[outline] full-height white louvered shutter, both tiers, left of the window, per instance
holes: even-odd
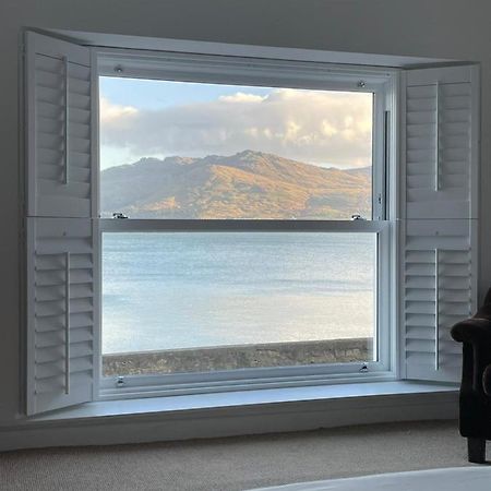
[[[26,411],[93,399],[97,220],[87,48],[26,34]]]

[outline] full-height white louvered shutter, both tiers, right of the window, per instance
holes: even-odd
[[[450,331],[476,310],[477,75],[467,65],[410,70],[403,80],[399,311],[406,379],[460,376],[462,346]]]

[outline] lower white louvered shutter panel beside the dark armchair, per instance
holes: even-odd
[[[472,220],[404,224],[402,323],[407,379],[455,382],[462,346],[450,330],[476,309]]]

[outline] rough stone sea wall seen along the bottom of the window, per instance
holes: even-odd
[[[104,355],[103,374],[116,376],[209,372],[243,368],[362,362],[371,359],[371,338],[271,343]]]

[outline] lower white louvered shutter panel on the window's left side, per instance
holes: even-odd
[[[96,288],[93,220],[27,218],[27,414],[91,400]]]

